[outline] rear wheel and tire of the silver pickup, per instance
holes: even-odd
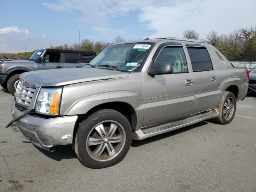
[[[213,118],[214,122],[218,124],[228,124],[233,120],[236,113],[236,97],[232,92],[224,92],[222,100],[218,105],[218,111],[219,115]]]

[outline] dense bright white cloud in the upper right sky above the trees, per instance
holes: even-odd
[[[212,29],[219,33],[232,32],[237,28],[254,26],[256,23],[255,0],[191,0],[174,6],[142,8],[139,21],[148,23],[156,30],[150,38],[167,36],[181,37],[186,29],[200,32],[200,37]]]

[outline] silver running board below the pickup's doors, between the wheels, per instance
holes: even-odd
[[[207,119],[211,119],[218,115],[219,115],[218,110],[213,109],[211,111],[189,116],[188,118],[184,118],[178,121],[174,121],[174,122],[170,122],[170,123],[166,123],[166,124],[162,124],[162,125],[158,125],[150,128],[142,128],[133,132],[133,139],[143,140],[148,137],[156,136],[156,135],[173,131],[182,127],[186,127]]]

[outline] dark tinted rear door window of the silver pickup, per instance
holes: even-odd
[[[190,56],[193,72],[212,70],[212,61],[206,48],[189,47],[188,54]]]

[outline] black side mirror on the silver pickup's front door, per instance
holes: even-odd
[[[173,68],[172,64],[169,62],[155,62],[152,64],[149,75],[164,75],[164,74],[172,74]]]

